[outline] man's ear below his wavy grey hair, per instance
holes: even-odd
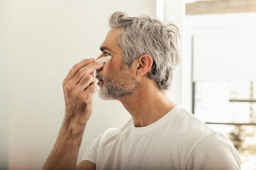
[[[148,54],[143,54],[142,56],[137,58],[137,64],[136,64],[137,76],[142,76],[143,74],[150,72],[152,64],[153,64],[153,59]]]

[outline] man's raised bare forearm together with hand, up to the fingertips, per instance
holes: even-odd
[[[92,113],[93,94],[97,91],[93,74],[94,70],[101,67],[102,64],[94,62],[94,59],[84,59],[74,65],[64,79],[62,85],[66,114],[43,170],[76,170],[84,128]],[[83,162],[81,165],[91,169],[93,163],[90,163],[92,162]]]

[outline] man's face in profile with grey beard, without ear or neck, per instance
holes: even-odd
[[[119,99],[140,87],[134,78],[135,73],[128,65],[123,64],[123,51],[116,45],[119,34],[120,30],[116,28],[112,28],[108,32],[100,48],[102,54],[98,57],[112,56],[110,62],[96,70],[96,78],[99,79],[97,84],[100,87],[99,96],[105,100]]]

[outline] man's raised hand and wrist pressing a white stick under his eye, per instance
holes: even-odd
[[[90,118],[93,109],[93,94],[96,93],[96,78],[94,70],[102,64],[94,62],[95,59],[84,59],[70,70],[63,80],[67,122],[85,123]]]

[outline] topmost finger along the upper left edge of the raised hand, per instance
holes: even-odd
[[[93,58],[92,59],[83,59],[81,62],[73,65],[72,69],[67,74],[67,77],[63,80],[63,86],[66,85],[67,82],[69,82],[70,79],[72,79],[81,68],[83,68],[84,66],[86,66],[94,61],[95,61],[95,59],[93,59]]]

